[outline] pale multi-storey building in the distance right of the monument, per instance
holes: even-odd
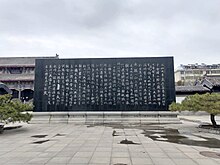
[[[220,75],[220,64],[181,65],[175,71],[175,83],[176,85],[194,85],[196,80],[202,80],[205,75]]]

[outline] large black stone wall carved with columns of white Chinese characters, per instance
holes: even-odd
[[[164,111],[173,57],[36,59],[34,111]]]

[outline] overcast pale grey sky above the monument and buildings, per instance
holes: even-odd
[[[0,0],[0,57],[220,63],[220,0]]]

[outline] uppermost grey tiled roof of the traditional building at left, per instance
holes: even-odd
[[[56,56],[48,57],[0,57],[0,66],[34,66],[35,59],[39,58],[57,58]]]

